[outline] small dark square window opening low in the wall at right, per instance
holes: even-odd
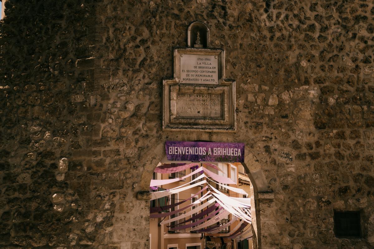
[[[340,238],[361,237],[360,212],[334,211],[334,231]]]

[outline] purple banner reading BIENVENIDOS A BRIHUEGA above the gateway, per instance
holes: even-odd
[[[169,161],[244,162],[243,143],[166,141]]]

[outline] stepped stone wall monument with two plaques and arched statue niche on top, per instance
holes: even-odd
[[[208,27],[193,24],[188,46],[191,41],[199,46],[174,48],[174,78],[163,80],[162,128],[235,131],[235,81],[225,78],[224,50],[206,48]]]

